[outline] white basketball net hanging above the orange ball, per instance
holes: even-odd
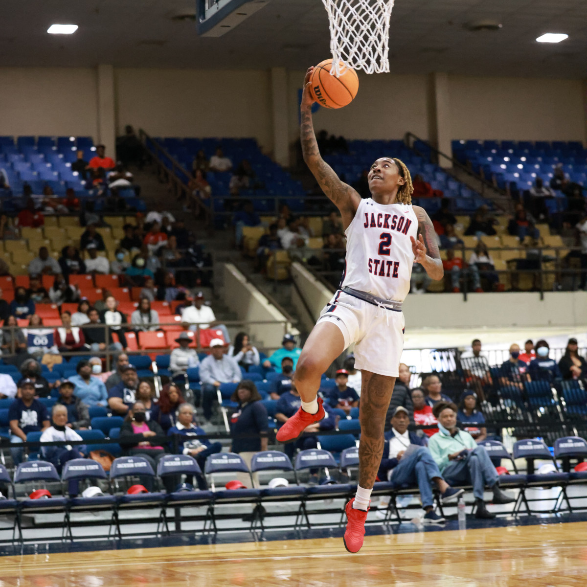
[[[389,18],[394,0],[322,0],[330,21],[332,69],[389,72]],[[342,62],[342,63],[340,63]]]

